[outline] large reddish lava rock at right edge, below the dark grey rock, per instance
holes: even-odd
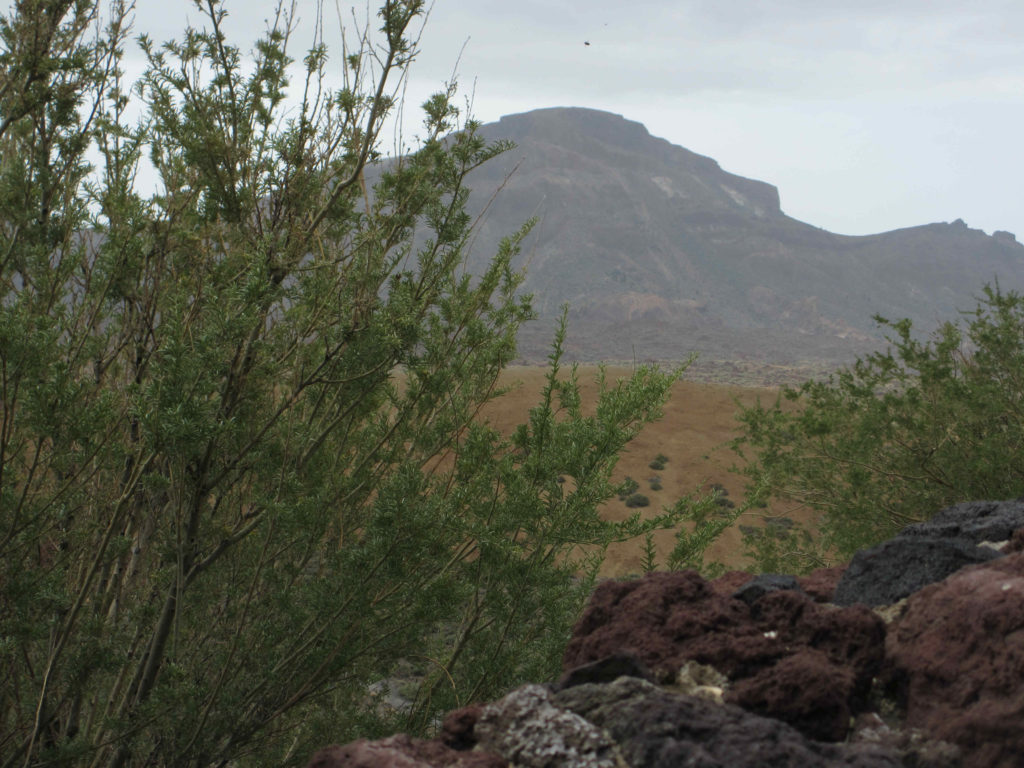
[[[966,768],[1022,765],[1024,553],[912,595],[886,651],[908,727],[958,744]]]

